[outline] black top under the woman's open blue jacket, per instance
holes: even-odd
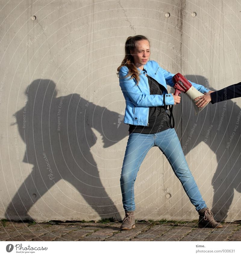
[[[163,86],[159,84],[155,79],[147,75],[150,94],[162,95]],[[142,125],[129,125],[129,132],[137,132],[143,134],[153,134],[160,131],[167,130],[169,127],[169,117],[165,113],[164,106],[149,107],[148,126]]]

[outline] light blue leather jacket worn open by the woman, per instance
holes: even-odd
[[[120,86],[126,100],[124,123],[148,126],[149,107],[164,106],[163,97],[165,97],[166,105],[174,105],[172,94],[167,92],[167,84],[171,87],[174,86],[172,81],[174,74],[167,72],[153,60],[148,61],[144,65],[143,70],[139,68],[138,70],[140,73],[138,85],[136,85],[137,83],[134,78],[130,79],[130,76],[123,78],[128,74],[128,68],[126,66],[121,67],[119,71]],[[163,86],[163,95],[150,94],[146,73]],[[192,82],[191,84],[201,93],[209,91],[202,85]]]

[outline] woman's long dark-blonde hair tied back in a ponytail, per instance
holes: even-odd
[[[125,57],[124,57],[123,61],[121,62],[121,65],[117,68],[117,75],[119,77],[119,71],[120,71],[121,67],[127,66],[127,68],[129,69],[129,72],[126,76],[124,76],[124,78],[128,77],[128,76],[130,76],[130,79],[135,78],[137,81],[137,84],[140,81],[139,72],[138,72],[138,69],[136,68],[136,65],[134,63],[134,58],[133,58],[133,56],[131,56],[130,51],[135,50],[136,42],[140,41],[140,40],[147,40],[149,42],[148,38],[146,36],[142,36],[142,35],[129,36],[127,38],[126,43],[125,43]],[[150,42],[149,42],[149,44],[150,44]]]

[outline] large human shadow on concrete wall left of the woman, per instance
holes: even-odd
[[[15,113],[19,134],[26,144],[23,162],[34,166],[8,205],[6,218],[33,219],[28,213],[30,207],[55,183],[64,179],[101,218],[120,220],[121,216],[100,180],[91,147],[99,143],[93,127],[102,134],[100,144],[107,148],[127,136],[124,122],[117,132],[118,113],[94,105],[76,93],[56,98],[55,87],[51,80],[33,81],[26,89],[26,105]],[[26,120],[23,120],[24,112]],[[52,205],[60,206],[57,213],[60,217],[73,220],[71,216],[61,216],[67,207],[62,205],[61,198],[66,200],[66,195],[58,189],[58,198],[49,194]],[[73,211],[83,213],[78,198],[69,200],[76,205]],[[48,207],[51,210],[51,205]]]

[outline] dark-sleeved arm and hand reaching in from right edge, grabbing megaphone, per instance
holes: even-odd
[[[230,85],[226,88],[223,88],[215,92],[204,93],[204,94],[205,95],[199,96],[196,99],[194,99],[194,100],[199,100],[196,103],[198,107],[203,107],[209,102],[214,104],[224,100],[231,100],[234,98],[241,97],[241,82]]]

